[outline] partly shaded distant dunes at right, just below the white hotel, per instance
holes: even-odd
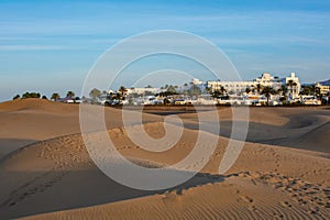
[[[220,109],[219,117],[219,135],[230,138],[232,110]],[[186,128],[199,129],[196,113],[180,114],[180,118],[185,120]],[[330,153],[326,138],[330,130],[324,125],[329,121],[327,108],[250,108],[246,141]]]

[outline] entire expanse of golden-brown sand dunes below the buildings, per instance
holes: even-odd
[[[0,103],[0,218],[330,218],[329,109],[250,108],[244,148],[223,175],[218,168],[232,109],[218,113],[220,132],[205,131],[219,139],[217,147],[194,165],[207,160],[202,170],[183,185],[147,191],[116,183],[94,164],[79,134],[78,106],[33,99]],[[198,134],[197,113],[177,116],[185,124],[182,139],[162,153],[132,143],[120,109],[107,108],[106,123],[122,155],[142,166],[168,166],[191,152]],[[158,139],[165,134],[163,116],[145,113],[143,119],[132,129],[143,127]]]

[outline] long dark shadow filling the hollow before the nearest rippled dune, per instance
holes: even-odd
[[[64,172],[1,172],[0,177],[1,219],[84,208],[165,193],[179,196],[189,188],[224,180],[223,176],[198,173],[179,186],[148,191],[118,184],[96,167]],[[16,186],[13,187],[11,183]]]

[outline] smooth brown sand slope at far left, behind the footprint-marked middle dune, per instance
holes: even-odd
[[[148,121],[162,119],[150,116]],[[121,112],[106,109],[109,129],[122,125]],[[80,132],[79,106],[41,99],[23,99],[0,103],[0,160],[10,152],[36,141]]]

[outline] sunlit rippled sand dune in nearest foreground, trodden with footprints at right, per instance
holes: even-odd
[[[273,176],[270,174],[268,176]],[[275,176],[275,175],[274,175]],[[264,178],[264,176],[261,176]],[[278,177],[280,179],[280,177]],[[284,177],[285,179],[285,177]],[[293,180],[295,182],[295,180]],[[293,184],[294,185],[294,184]],[[296,191],[309,184],[301,183]],[[296,187],[296,186],[295,186]],[[294,188],[296,189],[296,188]],[[306,193],[319,195],[322,189]],[[297,193],[298,194],[298,193]],[[326,194],[323,194],[326,198]],[[180,194],[167,191],[85,209],[41,215],[33,219],[64,217],[96,219],[327,219],[329,212],[314,207],[309,197],[295,197],[276,187],[268,187],[257,178],[243,174],[229,177],[226,183],[189,188]],[[326,200],[323,198],[323,200]],[[312,208],[311,208],[312,207]],[[30,219],[30,218],[28,218]]]

